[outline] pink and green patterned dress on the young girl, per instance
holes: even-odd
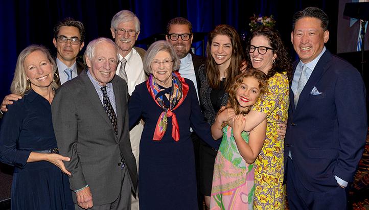
[[[248,133],[242,132],[248,143]],[[215,158],[210,208],[252,209],[255,191],[254,169],[237,149],[233,129],[223,128],[223,138]]]

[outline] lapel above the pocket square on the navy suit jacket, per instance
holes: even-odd
[[[316,64],[304,89],[301,91],[300,97],[298,99],[296,111],[298,111],[300,107],[302,107],[302,105],[309,98],[311,90],[314,88],[314,86],[319,81],[319,79],[324,74],[324,72],[326,72],[329,66],[329,61],[331,59],[332,59],[332,54],[328,50],[326,50],[326,52],[320,57],[318,63]]]

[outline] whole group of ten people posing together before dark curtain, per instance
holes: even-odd
[[[345,209],[365,144],[365,87],[325,47],[328,16],[293,17],[291,63],[275,29],[243,50],[229,25],[191,52],[192,25],[134,47],[122,10],[108,38],[54,28],[54,59],[31,45],[1,110],[0,160],[15,167],[13,209]],[[60,86],[61,85],[61,86]],[[287,125],[287,128],[285,128]],[[286,130],[287,129],[287,130]]]

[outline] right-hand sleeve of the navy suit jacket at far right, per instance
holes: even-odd
[[[367,132],[365,86],[351,65],[340,71],[334,91],[339,124],[339,155],[334,175],[345,181],[353,177],[361,158]]]

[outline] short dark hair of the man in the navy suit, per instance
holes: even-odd
[[[315,17],[321,21],[321,28],[324,31],[328,30],[329,18],[328,15],[321,9],[317,7],[307,7],[303,11],[298,11],[293,15],[292,19],[292,31],[295,30],[295,25],[297,20],[304,18],[304,17]]]

